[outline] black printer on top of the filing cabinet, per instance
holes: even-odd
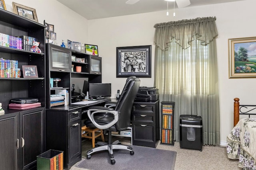
[[[150,102],[159,98],[159,92],[156,87],[140,86],[134,102]]]

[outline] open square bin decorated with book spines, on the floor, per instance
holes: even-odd
[[[36,156],[37,170],[63,170],[63,151],[48,150]]]

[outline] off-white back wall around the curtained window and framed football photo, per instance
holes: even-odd
[[[154,85],[154,24],[168,21],[216,16],[218,29],[217,55],[220,90],[220,140],[233,127],[233,102],[240,98],[241,104],[256,104],[254,78],[228,78],[228,39],[255,36],[256,1],[244,0],[208,6],[176,9],[176,17],[166,11],[136,14],[97,20],[88,20],[89,41],[98,45],[102,57],[102,82],[112,83],[115,96],[122,89],[126,78],[116,78],[116,47],[152,45],[152,78],[140,78],[142,86]],[[146,6],[145,6],[146,8]],[[104,25],[104,26],[103,26]]]

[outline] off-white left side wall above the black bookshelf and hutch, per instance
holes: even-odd
[[[67,39],[86,43],[88,41],[88,21],[56,0],[4,0],[6,10],[13,12],[12,2],[36,9],[38,22],[54,25],[56,45],[61,45],[62,39],[67,45]],[[40,46],[39,46],[40,47]]]

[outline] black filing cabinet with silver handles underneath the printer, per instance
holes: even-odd
[[[132,145],[156,148],[159,141],[159,100],[134,102]]]

